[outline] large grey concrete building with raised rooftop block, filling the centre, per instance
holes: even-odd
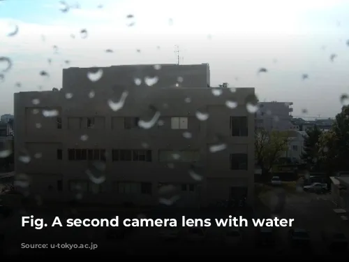
[[[140,205],[180,197],[177,205],[191,206],[247,196],[252,203],[254,115],[246,101],[254,88],[221,87],[214,96],[206,64],[102,69],[96,82],[89,68],[68,68],[58,92],[15,94],[15,173],[26,174],[17,179],[29,180],[31,194]],[[151,87],[149,75],[157,78]]]

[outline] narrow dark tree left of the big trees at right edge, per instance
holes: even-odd
[[[320,170],[319,139],[321,135],[322,131],[315,125],[307,130],[304,136],[304,152],[301,159],[311,170]]]

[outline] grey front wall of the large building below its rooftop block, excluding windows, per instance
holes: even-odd
[[[96,83],[83,78],[78,86],[64,79],[66,84],[59,92],[15,94],[15,171],[27,175],[29,191],[47,199],[68,201],[82,197],[81,201],[88,202],[145,205],[158,203],[163,197],[158,190],[161,185],[173,184],[176,189],[172,195],[181,196],[179,205],[206,205],[217,198],[229,198],[230,187],[246,187],[248,201],[253,201],[254,115],[247,112],[245,105],[247,97],[254,94],[253,88],[237,89],[235,93],[223,88],[221,96],[213,96],[207,87],[126,88],[110,87],[103,78],[100,81],[100,88],[96,88]],[[92,89],[93,98],[89,96]],[[124,106],[112,110],[110,104],[117,103],[125,92],[128,96]],[[67,93],[73,97],[66,99]],[[33,99],[40,103],[33,105]],[[237,101],[237,108],[227,108],[228,99]],[[47,112],[58,115],[45,117]],[[150,129],[125,129],[126,117],[149,122],[157,112],[161,115]],[[198,112],[208,115],[207,121],[200,121]],[[241,116],[247,117],[248,136],[232,136],[230,117]],[[183,117],[187,129],[172,129],[172,117]],[[93,128],[88,127],[88,118],[95,119]],[[192,138],[185,138],[184,132],[190,132]],[[228,150],[209,152],[211,145],[222,143],[228,145]],[[94,156],[95,152],[105,152],[105,170],[96,170],[91,161],[69,160],[71,149],[75,150],[75,157],[76,150],[87,149],[90,151],[84,154],[94,152]],[[121,154],[120,150],[151,150],[151,161],[113,161],[115,152]],[[172,159],[164,159],[164,151],[172,151]],[[191,161],[174,157],[183,157],[184,152],[198,157]],[[247,154],[246,170],[230,170],[230,154]],[[105,182],[96,185],[87,170],[94,174],[94,180],[105,177]],[[71,188],[74,180],[80,189]]]

